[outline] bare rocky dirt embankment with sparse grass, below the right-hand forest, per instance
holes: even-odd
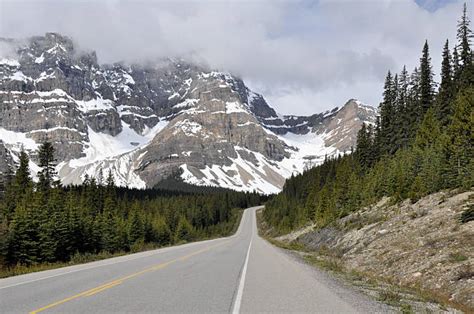
[[[421,294],[474,312],[474,221],[461,223],[474,191],[440,192],[412,204],[378,204],[321,230],[306,228],[280,241],[304,245],[344,271],[411,287]]]

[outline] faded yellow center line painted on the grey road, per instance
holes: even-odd
[[[60,304],[69,302],[69,301],[71,301],[71,300],[74,300],[74,299],[77,299],[77,298],[80,298],[80,297],[92,296],[92,295],[94,295],[94,294],[96,294],[96,293],[99,293],[99,292],[102,292],[102,291],[104,291],[104,290],[107,290],[107,289],[110,289],[110,288],[112,288],[112,287],[115,287],[115,286],[117,286],[117,285],[123,283],[125,280],[132,279],[132,278],[134,278],[134,277],[137,277],[137,276],[139,276],[139,275],[142,275],[142,274],[147,273],[147,272],[150,272],[150,271],[156,271],[156,270],[159,270],[159,269],[163,269],[163,268],[165,268],[165,267],[167,267],[167,266],[169,266],[169,265],[171,265],[171,264],[173,264],[173,263],[176,263],[176,262],[178,262],[178,261],[185,261],[185,260],[187,260],[187,259],[190,258],[190,257],[193,257],[193,256],[195,256],[195,255],[204,253],[204,252],[209,251],[209,250],[211,250],[211,249],[213,249],[213,248],[216,248],[216,247],[218,247],[218,246],[224,245],[224,244],[226,244],[226,243],[228,243],[228,242],[229,242],[229,241],[226,241],[226,242],[224,242],[224,243],[219,243],[219,244],[216,244],[216,245],[211,245],[211,246],[209,246],[209,247],[207,247],[207,248],[204,248],[204,249],[195,251],[195,252],[190,253],[190,254],[188,254],[188,255],[184,255],[184,256],[178,257],[178,258],[176,258],[176,259],[173,259],[173,260],[171,260],[171,261],[168,261],[168,262],[165,262],[165,263],[161,263],[161,264],[157,264],[157,265],[154,265],[154,266],[152,266],[152,267],[149,267],[149,268],[146,268],[146,269],[144,269],[144,270],[141,270],[141,271],[139,271],[139,272],[132,273],[132,274],[127,275],[127,276],[125,276],[125,277],[121,277],[121,278],[119,278],[119,279],[116,279],[116,280],[107,282],[107,283],[105,283],[105,284],[103,284],[103,285],[100,285],[100,286],[98,286],[98,287],[95,287],[95,288],[92,288],[92,289],[83,291],[83,292],[81,292],[81,293],[75,294],[75,295],[70,296],[70,297],[68,297],[68,298],[65,298],[65,299],[56,301],[56,302],[54,302],[54,303],[48,304],[48,305],[43,306],[42,308],[39,308],[39,309],[37,309],[37,310],[33,310],[33,311],[30,312],[30,314],[36,314],[36,313],[42,312],[42,311],[44,311],[44,310],[50,309],[50,308],[52,308],[52,307],[58,306],[58,305],[60,305]]]

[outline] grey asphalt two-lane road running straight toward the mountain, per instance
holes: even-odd
[[[374,313],[384,306],[257,234],[237,233],[0,280],[1,313]]]

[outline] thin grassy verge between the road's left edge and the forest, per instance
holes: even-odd
[[[173,243],[173,244],[164,245],[164,246],[154,245],[151,243],[141,244],[139,246],[135,246],[130,251],[120,251],[120,252],[115,252],[115,253],[99,252],[97,254],[76,254],[68,262],[43,263],[43,264],[34,264],[34,265],[15,265],[13,267],[0,268],[0,279],[11,277],[11,276],[18,276],[18,275],[24,275],[28,273],[44,271],[44,270],[51,270],[51,269],[62,268],[62,267],[67,267],[67,266],[74,266],[74,265],[79,265],[79,264],[96,262],[96,261],[100,261],[100,260],[104,260],[108,258],[119,257],[119,256],[134,254],[134,253],[140,253],[140,252],[146,252],[146,251],[166,248],[170,246],[179,246],[186,243],[212,240],[212,239],[230,236],[237,232],[240,221],[242,220],[243,212],[244,212],[243,209],[235,210],[236,217],[234,218],[232,229],[225,235],[219,234],[219,235],[215,235],[211,237],[200,237],[200,238],[194,239],[191,242],[180,241],[178,243]]]

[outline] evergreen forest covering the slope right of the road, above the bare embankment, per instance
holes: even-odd
[[[411,74],[388,72],[380,117],[359,131],[349,155],[326,159],[286,181],[264,217],[279,233],[307,222],[325,226],[383,196],[393,200],[474,183],[472,31],[464,11],[457,43],[444,46],[441,82],[434,82],[428,41]],[[472,209],[466,212],[472,219]],[[471,217],[471,218],[469,218]]]

